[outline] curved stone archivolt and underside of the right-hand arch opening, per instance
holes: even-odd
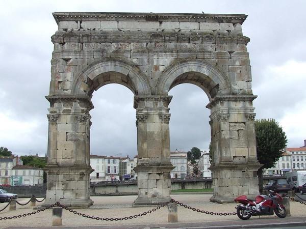
[[[158,95],[168,95],[175,85],[192,83],[200,87],[209,100],[217,95],[231,93],[231,85],[222,70],[204,60],[187,59],[170,65],[157,84]]]

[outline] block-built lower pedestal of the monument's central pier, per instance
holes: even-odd
[[[172,164],[137,166],[138,198],[134,205],[160,205],[170,201]]]

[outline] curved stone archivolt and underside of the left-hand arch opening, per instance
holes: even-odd
[[[147,78],[135,64],[124,60],[100,60],[92,63],[74,80],[72,95],[91,95],[103,85],[119,83],[134,95],[150,95]]]

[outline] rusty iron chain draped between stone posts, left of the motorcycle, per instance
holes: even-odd
[[[42,201],[40,201],[42,202]],[[29,203],[29,202],[28,202]],[[178,201],[175,201],[174,199],[171,199],[169,202],[165,203],[165,204],[162,204],[152,210],[149,210],[149,211],[146,211],[146,212],[143,212],[143,213],[139,213],[138,215],[133,215],[133,216],[126,216],[126,217],[121,217],[121,218],[104,218],[104,217],[96,217],[96,216],[90,216],[90,215],[86,215],[86,214],[82,214],[81,212],[78,212],[78,211],[75,211],[65,205],[62,205],[60,204],[59,202],[53,204],[53,205],[49,205],[43,209],[39,209],[39,210],[36,210],[36,211],[33,211],[33,212],[30,212],[30,213],[27,213],[27,214],[22,214],[22,215],[17,215],[17,216],[9,216],[9,217],[0,217],[0,220],[6,220],[6,219],[16,219],[16,218],[21,218],[21,217],[25,217],[25,216],[30,216],[30,215],[34,215],[36,213],[39,213],[39,212],[42,212],[42,211],[45,211],[49,208],[52,208],[52,207],[61,207],[69,212],[72,212],[73,214],[76,214],[76,215],[79,215],[79,216],[82,216],[82,217],[85,217],[85,218],[88,218],[88,219],[96,219],[96,220],[105,220],[105,221],[118,221],[118,220],[128,220],[128,219],[133,219],[133,218],[137,218],[137,217],[141,217],[141,216],[144,216],[144,215],[147,215],[147,214],[150,214],[152,212],[155,212],[165,206],[167,206],[168,204],[177,204],[177,205],[180,205],[184,208],[188,208],[189,210],[192,210],[192,211],[196,211],[196,212],[199,212],[199,213],[203,213],[203,214],[208,214],[208,215],[220,215],[220,216],[227,216],[227,215],[236,215],[237,213],[236,212],[229,212],[229,213],[222,213],[222,212],[209,212],[209,211],[204,211],[204,210],[200,210],[200,209],[196,209],[196,208],[192,208],[186,204],[183,204],[183,203],[180,203]],[[10,203],[9,203],[10,204]],[[9,204],[5,207],[7,208],[9,206]],[[5,209],[4,208],[4,209]],[[3,209],[3,210],[4,210]],[[2,211],[2,210],[1,210]]]

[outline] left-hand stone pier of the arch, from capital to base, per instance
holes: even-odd
[[[90,115],[88,96],[49,96],[47,193],[43,206],[57,201],[71,207],[89,207]]]

